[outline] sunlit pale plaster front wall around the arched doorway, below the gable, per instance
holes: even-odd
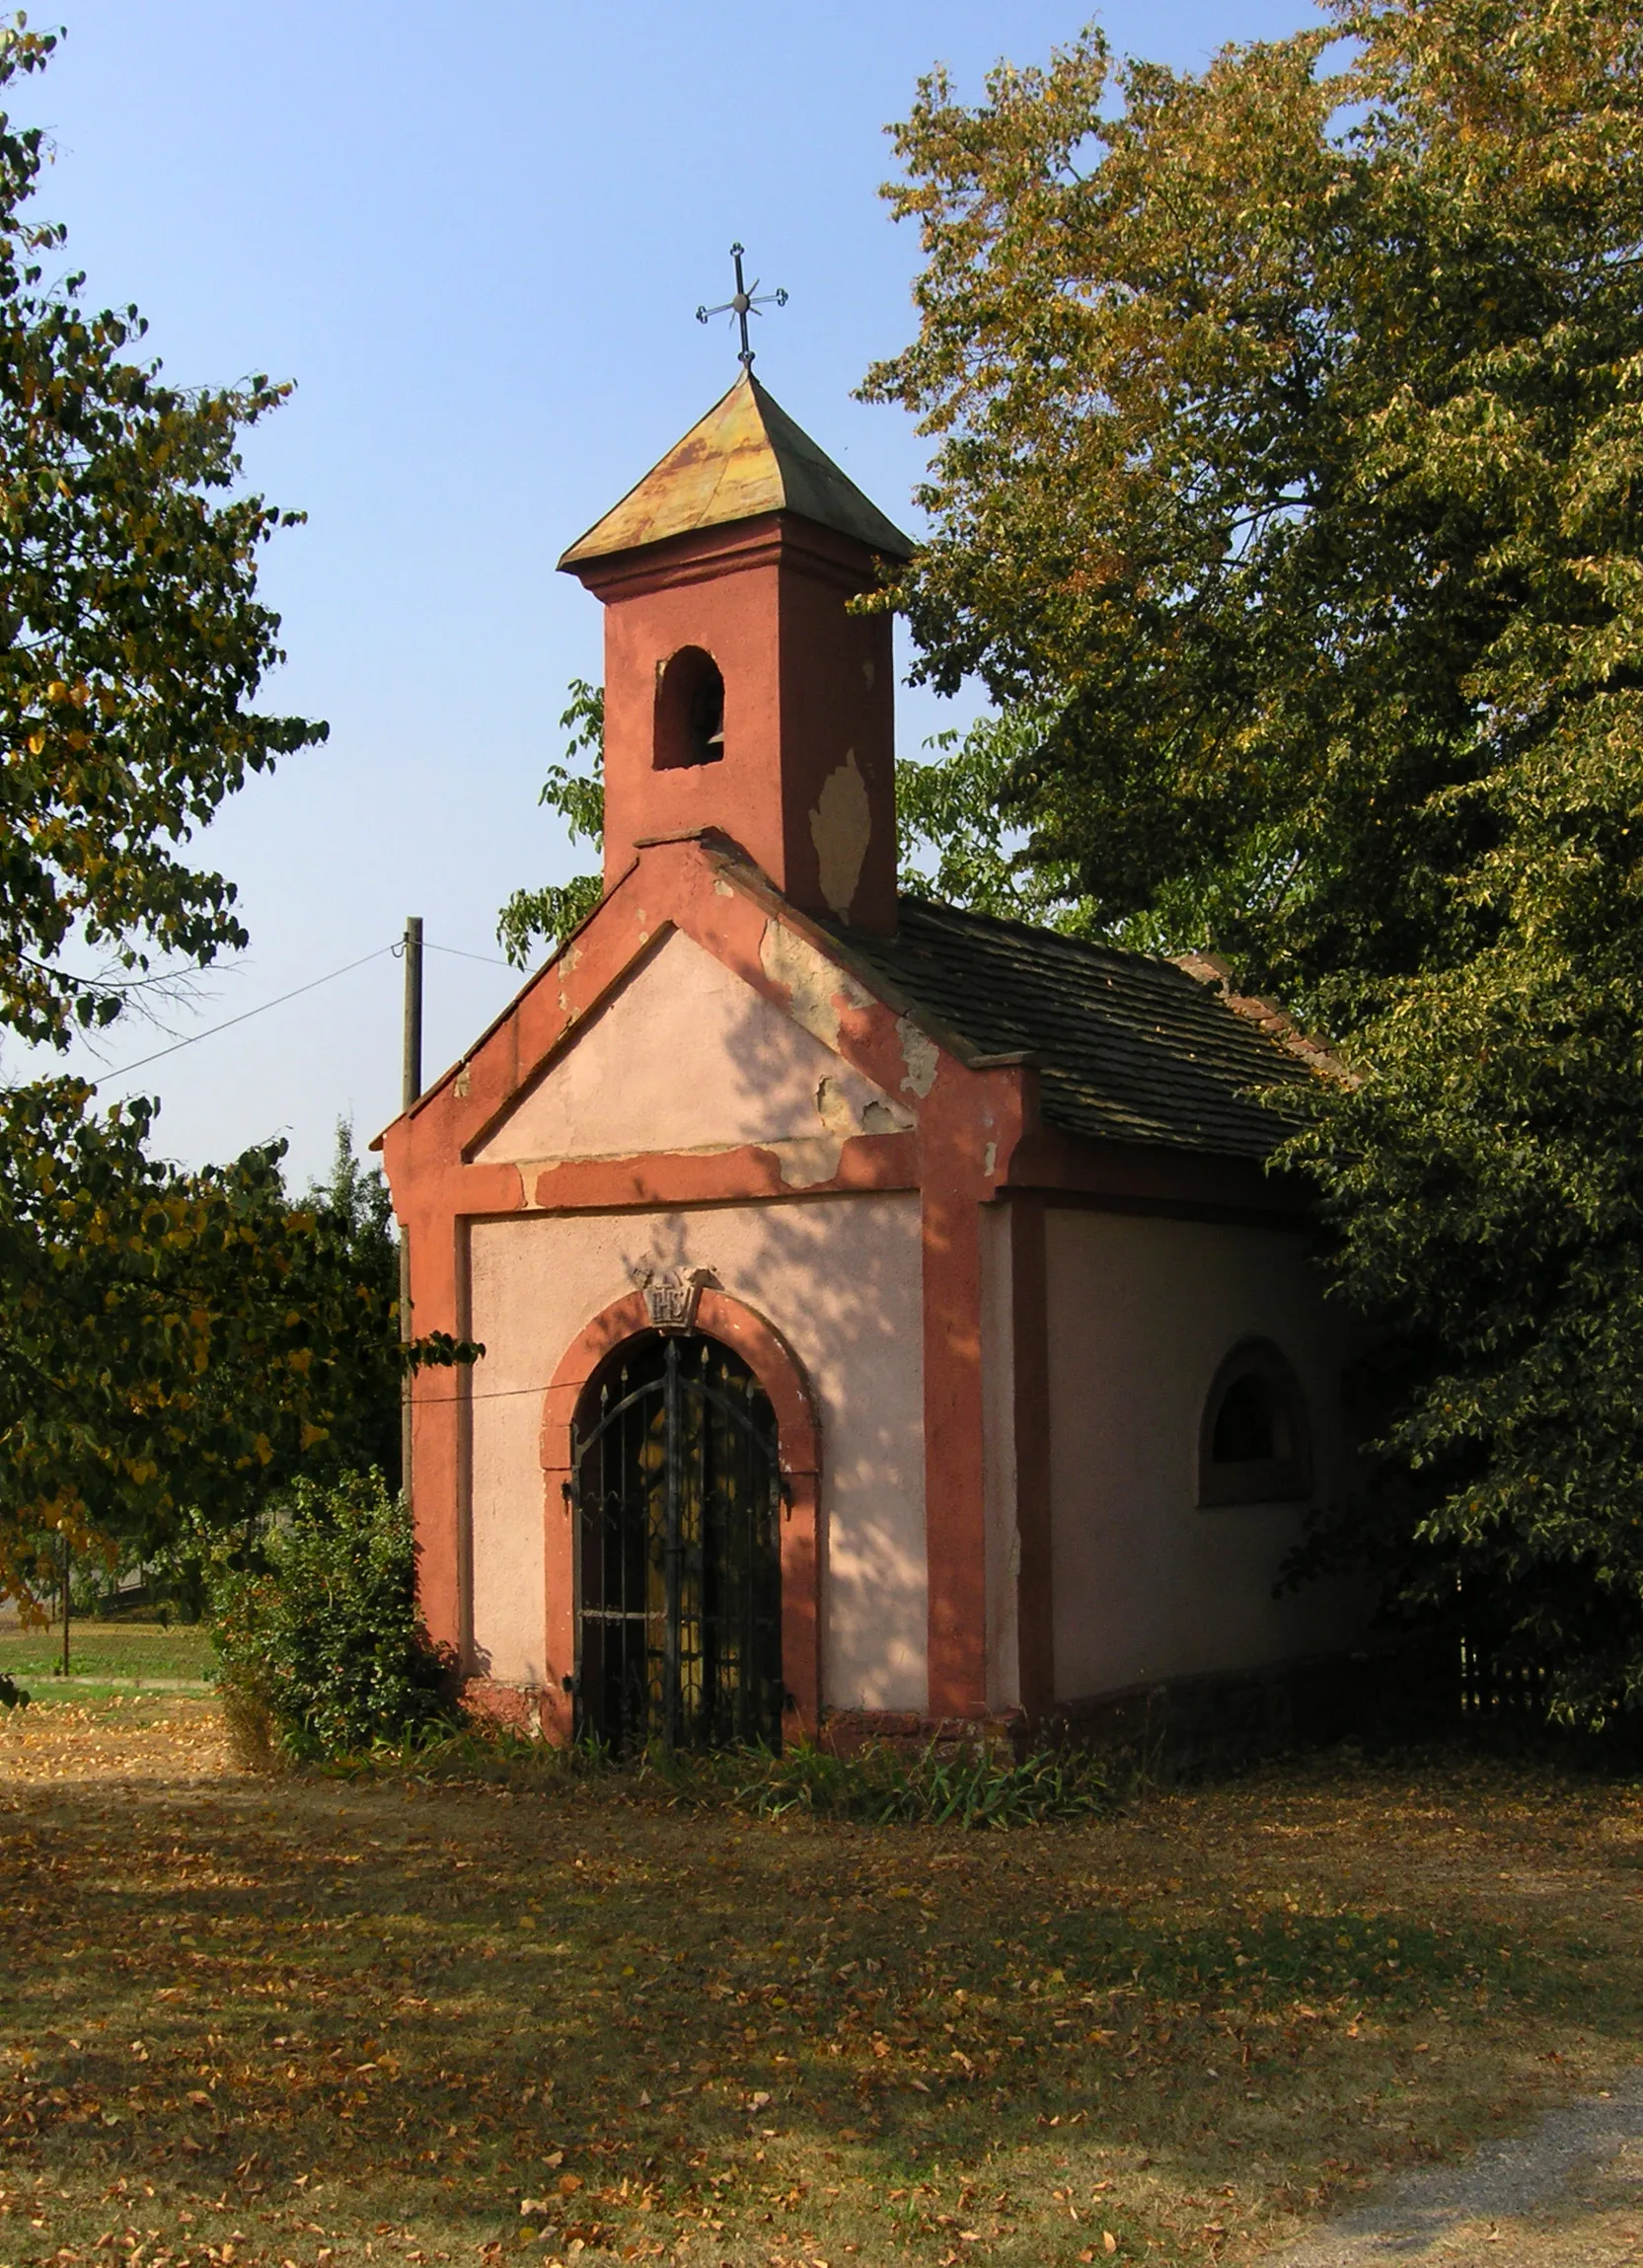
[[[641,1263],[712,1268],[793,1347],[823,1438],[823,1694],[922,1710],[925,1388],[918,1198],[671,1213],[517,1213],[469,1238],[474,1649],[483,1674],[544,1676],[542,1397],[564,1349]],[[557,1506],[546,1517],[564,1517]]]

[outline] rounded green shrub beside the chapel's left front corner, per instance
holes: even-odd
[[[242,1765],[358,1755],[453,1721],[453,1658],[417,1615],[410,1510],[381,1472],[299,1481],[258,1563],[220,1563],[211,1581],[218,1685]]]

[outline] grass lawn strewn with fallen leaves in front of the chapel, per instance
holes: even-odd
[[[1638,1862],[1462,1758],[963,1837],[11,1712],[0,2263],[1249,2261],[1638,2057]]]

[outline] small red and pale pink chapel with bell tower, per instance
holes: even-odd
[[[551,1740],[1076,1724],[1339,1656],[1317,1061],[1183,964],[897,896],[906,538],[750,367],[560,565],[605,889],[383,1136],[431,1633]]]

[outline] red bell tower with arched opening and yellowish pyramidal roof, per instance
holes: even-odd
[[[895,930],[888,615],[909,540],[750,370],[560,560],[605,606],[605,887],[714,828],[791,905]]]

